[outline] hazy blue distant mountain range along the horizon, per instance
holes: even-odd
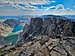
[[[42,17],[66,17],[67,19],[72,19],[72,20],[75,20],[75,15],[43,15]],[[39,15],[19,15],[19,16],[0,16],[0,19],[24,19],[24,18],[27,18],[27,17],[39,17]]]

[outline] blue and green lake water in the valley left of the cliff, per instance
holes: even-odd
[[[14,27],[12,33],[10,33],[6,38],[5,41],[6,43],[11,43],[11,44],[16,44],[16,41],[18,39],[18,34],[16,33],[17,31],[20,31],[23,29],[23,26],[18,24],[17,26]]]

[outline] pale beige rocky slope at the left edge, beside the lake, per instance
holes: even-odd
[[[5,23],[0,23],[0,36],[7,36],[9,33],[12,32],[12,28]]]

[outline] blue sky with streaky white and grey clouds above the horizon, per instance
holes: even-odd
[[[75,15],[75,0],[0,0],[3,15]]]

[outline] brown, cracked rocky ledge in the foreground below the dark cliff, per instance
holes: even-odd
[[[75,56],[75,38],[40,35],[24,44],[6,46],[0,50],[0,56]]]

